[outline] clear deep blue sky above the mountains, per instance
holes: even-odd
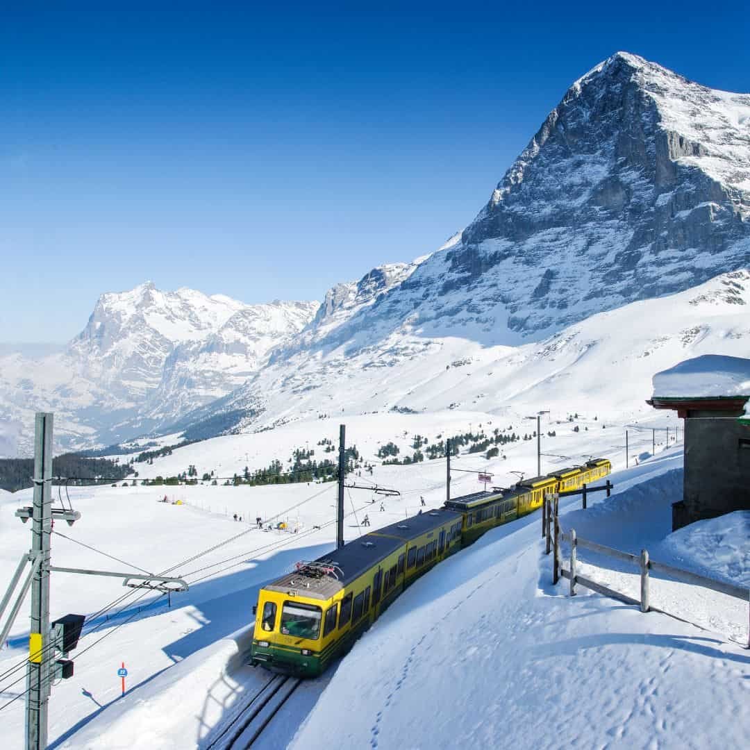
[[[180,7],[4,10],[0,341],[146,279],[321,299],[433,251],[618,49],[750,91],[742,4]]]

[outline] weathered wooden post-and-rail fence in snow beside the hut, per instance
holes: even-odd
[[[580,585],[584,586],[586,589],[591,589],[598,594],[610,596],[619,599],[619,601],[624,601],[626,604],[639,606],[641,612],[648,612],[651,610],[670,617],[675,617],[676,619],[684,618],[655,607],[649,601],[649,573],[654,571],[679,580],[682,583],[691,583],[693,586],[702,586],[704,589],[710,589],[748,603],[748,642],[739,643],[739,645],[743,648],[750,649],[750,588],[747,586],[736,586],[733,583],[724,583],[721,580],[714,580],[713,578],[692,573],[691,571],[682,570],[682,568],[675,568],[673,565],[667,565],[665,562],[656,562],[649,558],[648,550],[640,550],[640,555],[634,555],[630,552],[622,552],[622,550],[616,550],[614,547],[607,547],[604,544],[599,544],[597,541],[580,538],[577,536],[575,529],[570,529],[569,532],[564,532],[559,523],[558,508],[559,495],[557,493],[551,496],[547,495],[544,498],[542,519],[546,526],[547,536],[545,551],[547,554],[549,554],[550,551],[553,552],[552,583],[556,584],[560,577],[567,578],[570,581],[571,596],[575,595],[575,587]],[[561,543],[563,541],[570,544],[570,557],[567,570],[564,567],[564,561],[562,559]],[[578,547],[634,565],[634,567],[640,571],[640,599],[632,598],[624,592],[616,591],[616,589],[611,589],[603,583],[598,583],[595,580],[591,580],[590,578],[581,575],[577,571]],[[691,624],[697,625],[697,623]],[[700,627],[700,625],[697,625],[697,627]]]

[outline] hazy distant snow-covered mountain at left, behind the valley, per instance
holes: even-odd
[[[55,412],[60,448],[173,422],[244,383],[319,307],[246,305],[189,289],[163,292],[151,282],[104,294],[65,351],[0,356],[1,452],[28,452],[36,410]]]

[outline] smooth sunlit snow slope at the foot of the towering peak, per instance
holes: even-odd
[[[594,412],[626,422],[652,412],[645,400],[655,373],[691,356],[748,356],[748,305],[750,272],[742,270],[597,314],[520,347],[482,346],[473,329],[437,337],[415,325],[371,347],[350,350],[347,342],[314,356],[293,353],[221,408],[251,410],[241,423],[248,431],[320,415],[500,415],[508,408]]]

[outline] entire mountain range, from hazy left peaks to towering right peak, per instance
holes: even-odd
[[[422,408],[406,396],[437,383],[462,349],[481,359],[488,347],[521,347],[513,356],[524,372],[536,371],[531,352],[554,370],[542,353],[577,346],[581,322],[615,308],[636,314],[633,303],[670,294],[686,305],[682,328],[655,318],[654,341],[697,346],[682,329],[701,330],[705,305],[679,293],[704,285],[730,318],[740,311],[748,220],[750,95],[618,52],[568,89],[475,220],[428,257],[338,284],[323,305],[243,305],[144,284],[102,296],[83,333],[42,366],[0,356],[0,452],[28,452],[20,436],[40,408],[59,414],[66,447],[175,423],[226,431],[316,410]],[[612,320],[627,326],[621,314]],[[746,352],[739,318],[730,329],[734,338],[703,338]],[[510,371],[510,392],[527,392],[524,372]],[[551,374],[538,377],[553,395]]]

